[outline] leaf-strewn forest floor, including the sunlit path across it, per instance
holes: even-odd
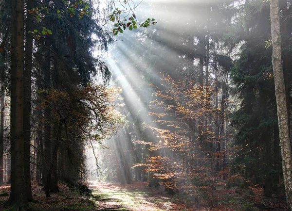
[[[34,199],[31,203],[34,211],[208,211],[210,200],[192,198],[189,195],[168,195],[164,187],[149,188],[146,182],[131,182],[120,185],[113,182],[91,183],[93,197],[88,200],[71,192],[66,185],[60,184],[60,193],[51,193],[46,198],[42,187],[32,184]],[[0,186],[0,194],[10,192],[10,186]],[[249,189],[214,190],[213,211],[265,211],[285,210],[283,197],[262,198],[261,202],[253,201],[256,195],[247,195]],[[9,196],[0,196],[0,211]]]

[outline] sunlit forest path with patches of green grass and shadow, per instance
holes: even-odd
[[[171,202],[171,195],[164,188],[149,188],[147,182],[128,185],[102,182],[91,183],[98,209],[102,211],[179,211],[183,205]]]

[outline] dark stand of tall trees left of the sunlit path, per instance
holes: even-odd
[[[98,11],[91,1],[5,0],[0,11],[0,153],[2,158],[4,91],[10,84],[11,194],[6,205],[19,210],[33,201],[31,179],[42,180],[50,196],[58,191],[59,179],[74,184],[84,178],[84,145],[111,134],[119,122],[112,91],[90,85],[97,73],[105,83],[110,79],[107,65],[91,50],[107,50],[112,39],[93,18]],[[10,82],[4,80],[8,66]],[[61,162],[61,156],[68,159]],[[65,166],[68,172],[62,171]]]

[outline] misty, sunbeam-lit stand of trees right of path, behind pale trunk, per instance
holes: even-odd
[[[123,37],[114,52],[121,61],[115,77],[131,93],[124,102],[135,177],[164,179],[177,191],[185,180],[212,187],[236,176],[266,196],[282,191],[269,2],[169,3],[161,14],[160,6],[149,9],[164,24]],[[280,11],[290,125],[290,3],[281,1]],[[170,21],[165,13],[175,15]]]

